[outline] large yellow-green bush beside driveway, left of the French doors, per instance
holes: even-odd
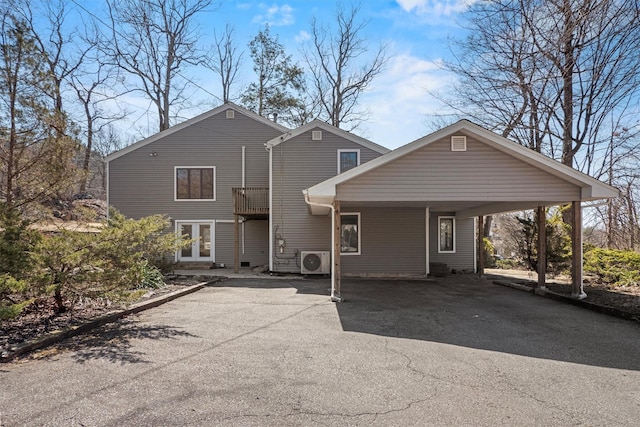
[[[153,264],[190,241],[167,233],[169,221],[154,215],[127,219],[115,210],[100,233],[63,230],[37,247],[40,290],[60,312],[79,297],[117,295],[140,287],[160,287],[162,273]]]

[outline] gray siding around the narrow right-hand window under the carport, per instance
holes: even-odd
[[[442,262],[450,269],[472,271],[475,268],[475,220],[456,218],[455,253],[438,253],[438,217],[452,216],[451,212],[430,212],[429,262]]]

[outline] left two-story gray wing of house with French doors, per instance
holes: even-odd
[[[223,105],[108,156],[107,202],[130,218],[169,215],[175,232],[197,239],[175,261],[232,266],[231,189],[268,188],[264,144],[287,131]],[[269,263],[268,219],[243,222],[240,238],[242,263]]]

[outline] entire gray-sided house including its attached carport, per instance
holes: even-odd
[[[579,215],[580,203],[618,195],[466,120],[389,151],[320,121],[289,130],[231,103],[107,162],[111,206],[169,215],[196,239],[175,261],[331,274],[336,298],[341,276],[426,275],[435,263],[481,271],[483,215],[565,203]],[[581,283],[581,269],[574,276]]]

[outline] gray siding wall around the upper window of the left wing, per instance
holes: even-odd
[[[281,132],[238,111],[223,112],[109,162],[109,203],[125,216],[167,214],[182,220],[233,219],[232,187],[269,186],[264,143]],[[155,155],[152,155],[155,153]],[[175,201],[175,166],[215,166],[215,201]]]

